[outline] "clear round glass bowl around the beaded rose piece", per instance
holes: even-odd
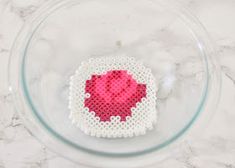
[[[70,76],[82,61],[119,54],[151,68],[156,128],[126,139],[87,136],[68,118]],[[220,92],[215,56],[202,25],[175,3],[50,1],[15,40],[9,88],[29,131],[57,153],[88,166],[141,167],[168,157],[211,118]]]

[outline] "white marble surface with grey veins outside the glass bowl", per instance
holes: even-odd
[[[24,21],[45,0],[0,0],[0,168],[77,168],[50,152],[24,128],[7,87],[7,61]],[[222,97],[205,135],[158,168],[235,168],[235,0],[180,0],[201,20],[218,45]]]

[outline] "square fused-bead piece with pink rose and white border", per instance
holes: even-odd
[[[132,57],[90,59],[71,77],[69,117],[91,136],[143,135],[157,121],[155,83]]]

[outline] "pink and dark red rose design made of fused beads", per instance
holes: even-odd
[[[95,112],[100,121],[110,121],[111,116],[120,116],[121,121],[131,117],[131,108],[146,97],[146,85],[138,84],[126,70],[111,70],[104,75],[92,75],[86,81],[85,107]]]

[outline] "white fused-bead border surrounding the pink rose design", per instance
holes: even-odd
[[[100,122],[94,112],[84,107],[84,99],[89,96],[85,93],[86,80],[92,74],[105,74],[110,70],[127,70],[138,82],[146,84],[146,98],[142,98],[135,108],[132,108],[132,117],[125,122],[119,116],[112,116],[110,122]],[[133,57],[101,57],[83,62],[70,80],[69,109],[73,124],[76,124],[84,133],[96,137],[132,137],[143,135],[151,130],[157,121],[156,109],[156,82],[151,70],[145,68],[141,62]]]

